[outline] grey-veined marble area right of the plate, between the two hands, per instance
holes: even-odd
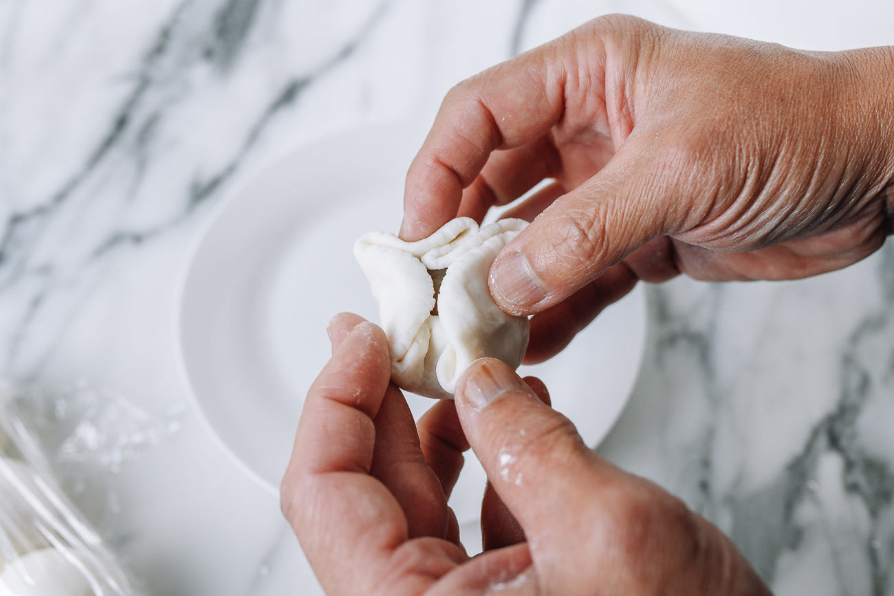
[[[814,280],[654,288],[602,452],[729,533],[776,593],[892,593],[892,278],[889,242]]]

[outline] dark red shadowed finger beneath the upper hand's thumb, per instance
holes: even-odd
[[[524,364],[535,365],[561,352],[603,308],[627,296],[636,285],[637,276],[627,264],[620,263],[569,298],[531,317]]]

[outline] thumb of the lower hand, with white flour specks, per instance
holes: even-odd
[[[499,360],[472,363],[454,397],[488,480],[532,544],[550,549],[550,536],[577,533],[585,504],[620,471]]]

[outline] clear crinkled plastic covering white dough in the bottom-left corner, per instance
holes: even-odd
[[[0,596],[136,596],[0,388]]]

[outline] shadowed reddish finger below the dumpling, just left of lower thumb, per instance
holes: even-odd
[[[468,450],[468,440],[456,414],[456,405],[451,399],[434,404],[419,418],[417,429],[426,462],[434,470],[443,493],[450,499],[465,462],[463,453]]]

